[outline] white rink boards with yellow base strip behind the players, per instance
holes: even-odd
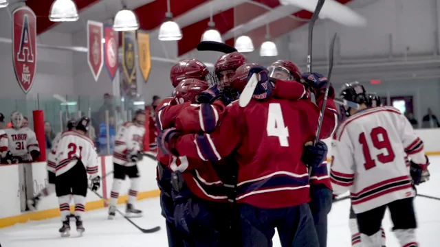
[[[419,137],[425,143],[425,150],[427,155],[440,154],[440,129],[430,130],[416,130]],[[329,157],[331,157],[331,139],[325,140],[329,148]],[[104,195],[104,198],[109,198],[111,191],[111,184],[113,182],[113,163],[111,156],[100,157],[99,173],[102,180],[102,185],[98,193]],[[156,177],[156,161],[144,157],[138,165],[141,174],[141,191],[138,194],[138,199],[151,198],[159,195],[157,189]],[[433,164],[437,166],[438,164]],[[434,167],[432,167],[434,168]],[[106,176],[109,174],[109,176]],[[57,217],[59,215],[58,201],[53,194],[48,198],[43,198],[39,204],[39,211],[25,212],[25,196],[28,198],[38,194],[47,183],[47,169],[46,163],[32,163],[28,165],[2,165],[0,166],[0,228],[11,226],[16,223],[27,222],[28,220],[44,220],[50,217]],[[423,189],[431,190],[433,184],[424,185]],[[428,188],[429,187],[429,188]],[[124,203],[127,199],[126,192],[129,189],[129,180],[123,184],[120,203]],[[434,189],[434,188],[432,188]],[[436,191],[432,191],[433,193]],[[437,193],[435,193],[437,196]],[[440,196],[440,195],[439,195]],[[104,207],[104,201],[100,200],[94,193],[87,194],[86,211],[93,209],[100,209]]]

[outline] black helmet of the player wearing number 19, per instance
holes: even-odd
[[[342,87],[340,98],[345,99],[349,102],[354,102],[357,104],[366,104],[368,106],[368,97],[366,95],[366,91],[364,89],[364,86],[359,84],[359,82],[352,82],[350,84],[345,84]],[[341,114],[344,114],[346,117],[350,117],[351,107],[341,106],[340,110],[341,110]]]

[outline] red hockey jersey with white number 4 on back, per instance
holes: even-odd
[[[328,103],[320,139],[331,136],[338,121],[333,99]],[[179,154],[203,161],[234,153],[239,163],[237,202],[292,207],[309,201],[309,174],[300,157],[304,144],[314,140],[319,111],[309,100],[272,97],[252,100],[245,108],[233,102],[212,134],[186,134],[175,146]]]

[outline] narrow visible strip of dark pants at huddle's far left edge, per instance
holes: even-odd
[[[161,163],[157,163],[159,180],[157,186],[160,189],[160,207],[162,216],[166,221],[166,233],[168,236],[169,247],[183,247],[184,240],[181,233],[177,230],[174,220],[174,202],[171,197],[171,172]]]

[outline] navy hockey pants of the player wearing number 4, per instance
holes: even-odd
[[[238,204],[241,246],[271,247],[275,228],[283,247],[319,247],[309,204],[281,209],[260,209]]]

